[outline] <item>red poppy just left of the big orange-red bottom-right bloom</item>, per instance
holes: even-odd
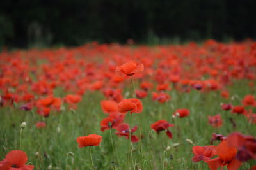
[[[203,160],[211,160],[211,157],[216,155],[216,146],[193,146],[192,148],[194,157],[192,158],[193,162],[199,162]]]

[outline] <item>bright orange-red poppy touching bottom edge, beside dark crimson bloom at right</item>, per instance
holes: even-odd
[[[216,155],[218,155],[218,157],[206,161],[211,170],[216,170],[223,166],[227,166],[228,170],[239,169],[242,162],[236,159],[236,148],[229,147],[227,141],[222,141],[216,147],[216,151]]]

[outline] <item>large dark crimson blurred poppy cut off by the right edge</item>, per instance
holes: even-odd
[[[256,159],[256,138],[234,132],[227,137],[228,146],[237,148],[236,159],[241,162]]]

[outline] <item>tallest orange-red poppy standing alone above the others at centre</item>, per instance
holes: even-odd
[[[143,71],[143,70],[144,70],[144,65],[137,64],[133,60],[126,62],[122,66],[116,67],[116,71],[122,71],[122,73],[126,74],[127,76],[132,76],[136,72]]]

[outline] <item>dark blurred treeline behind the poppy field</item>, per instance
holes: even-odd
[[[0,45],[256,38],[255,0],[7,0]]]

